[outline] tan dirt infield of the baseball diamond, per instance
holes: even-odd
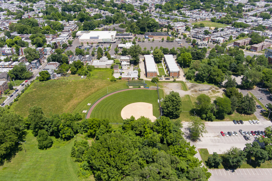
[[[132,103],[126,105],[122,111],[121,116],[123,119],[128,119],[134,116],[135,119],[144,116],[154,122],[157,118],[153,116],[153,107],[150,103]]]

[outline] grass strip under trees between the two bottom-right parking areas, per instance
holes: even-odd
[[[206,148],[201,148],[198,149],[201,159],[203,161],[203,163],[208,167],[208,157],[210,156],[208,150]],[[219,154],[219,156],[222,158],[224,156],[224,154]],[[240,168],[272,168],[272,164],[270,163],[270,161],[266,161],[265,163],[261,163],[260,165],[257,165],[254,161],[254,158],[252,158],[251,163],[249,163],[248,161],[245,161]],[[222,164],[220,164],[220,166],[218,167],[220,169],[223,169],[224,166]]]

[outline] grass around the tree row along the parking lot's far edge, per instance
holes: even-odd
[[[196,98],[190,95],[185,95],[181,97],[182,100],[182,112],[179,116],[179,119],[181,121],[191,121],[191,117],[194,116],[194,112],[188,112],[191,111],[193,108],[195,108],[195,102]],[[237,112],[234,112],[232,115],[225,115],[225,119],[215,119],[214,121],[232,121],[233,119],[235,120],[243,120],[243,121],[248,121],[249,119],[257,119],[256,116],[253,115],[241,115]]]

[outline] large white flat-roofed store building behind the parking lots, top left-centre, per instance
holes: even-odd
[[[116,31],[78,31],[79,43],[115,43]]]

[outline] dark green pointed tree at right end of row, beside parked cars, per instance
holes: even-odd
[[[253,97],[250,97],[248,94],[240,100],[238,110],[241,114],[252,115],[256,111],[256,103]]]

